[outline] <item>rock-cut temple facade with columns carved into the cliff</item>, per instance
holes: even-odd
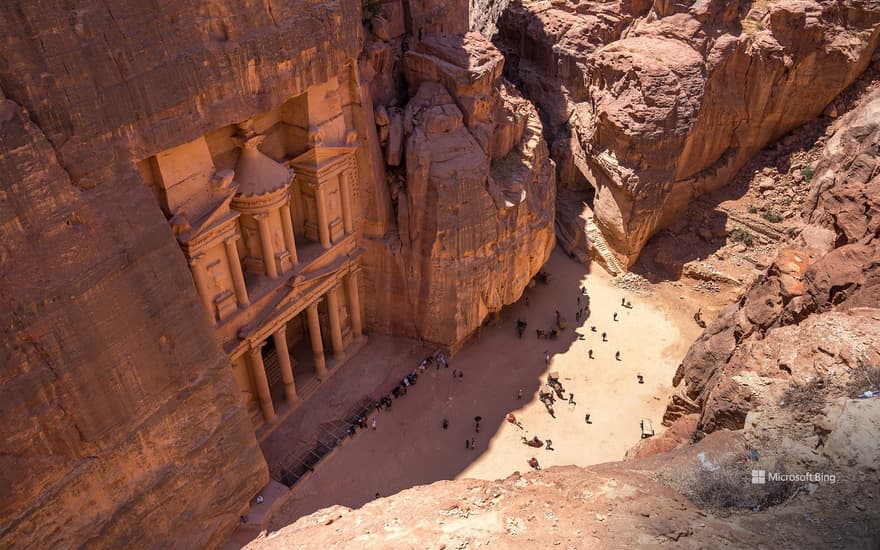
[[[365,342],[358,136],[341,95],[331,79],[139,163],[258,434]]]

